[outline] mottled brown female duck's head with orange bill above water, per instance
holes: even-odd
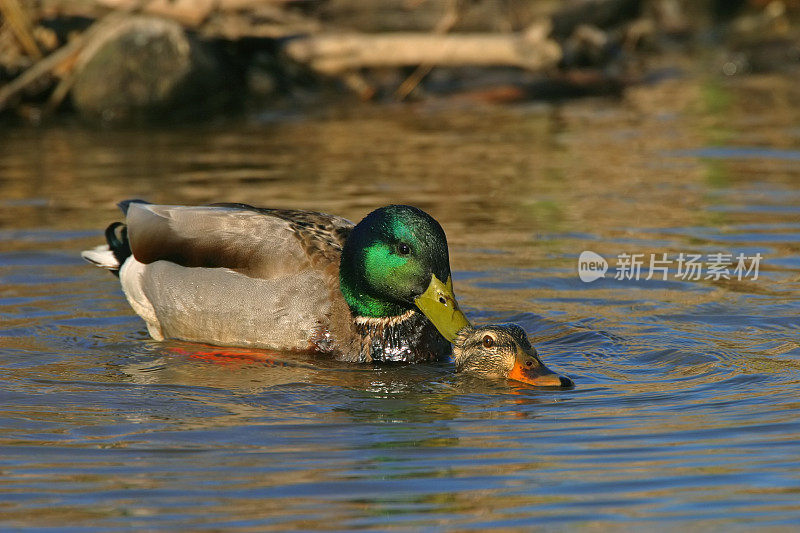
[[[453,341],[456,372],[505,378],[539,387],[572,387],[572,380],[550,371],[516,324],[465,327]]]

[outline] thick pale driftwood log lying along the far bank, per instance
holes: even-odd
[[[419,64],[541,70],[561,59],[561,48],[548,33],[549,26],[542,24],[507,35],[320,34],[290,41],[284,50],[293,60],[327,75]]]

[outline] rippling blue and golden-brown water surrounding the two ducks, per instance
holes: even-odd
[[[753,80],[7,130],[2,527],[797,527],[800,95]],[[519,323],[577,386],[151,341],[78,257],[129,197],[352,219],[418,205],[448,234],[467,314]],[[606,278],[579,280],[584,250]],[[683,280],[673,263],[667,280],[613,279],[620,254],[718,252],[760,253],[758,278]]]

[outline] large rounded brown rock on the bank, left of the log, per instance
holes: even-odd
[[[79,55],[72,102],[86,118],[143,122],[219,110],[234,83],[209,44],[176,22],[132,16],[102,28]]]

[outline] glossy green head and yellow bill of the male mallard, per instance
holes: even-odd
[[[339,283],[356,316],[417,308],[450,341],[469,324],[453,295],[444,230],[416,207],[382,207],[359,222],[342,250]]]

